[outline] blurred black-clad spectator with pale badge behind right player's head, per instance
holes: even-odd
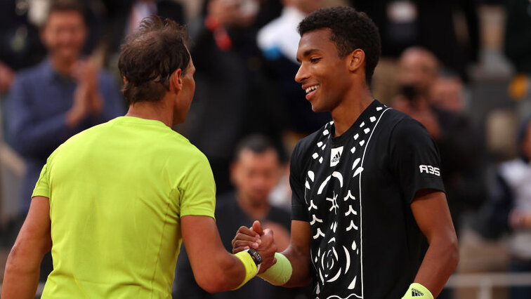
[[[422,46],[467,81],[466,67],[477,62],[479,22],[476,0],[350,0],[374,20],[381,35],[381,60],[373,80],[374,96],[389,102],[396,93],[396,58]]]

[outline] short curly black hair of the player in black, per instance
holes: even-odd
[[[320,8],[302,20],[298,28],[301,36],[318,29],[332,31],[331,40],[341,58],[358,48],[365,52],[365,81],[370,86],[381,53],[380,34],[371,18],[350,7]]]

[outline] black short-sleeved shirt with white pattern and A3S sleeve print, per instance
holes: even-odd
[[[301,140],[290,184],[291,218],[310,222],[315,298],[401,298],[421,263],[409,205],[444,191],[426,129],[374,100],[343,135],[330,122]]]

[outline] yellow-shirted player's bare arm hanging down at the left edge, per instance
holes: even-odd
[[[51,249],[50,225],[50,202],[46,197],[34,197],[8,256],[1,298],[35,297],[41,260]]]

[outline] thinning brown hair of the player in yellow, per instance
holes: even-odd
[[[169,91],[169,79],[177,69],[185,74],[190,53],[185,27],[173,20],[150,15],[122,45],[118,67],[126,83],[126,102],[156,102]]]

